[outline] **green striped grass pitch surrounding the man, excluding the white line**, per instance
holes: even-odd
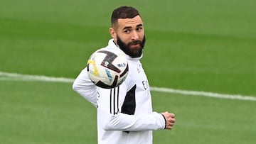
[[[255,1],[0,2],[0,72],[75,78],[110,38],[110,15],[142,14],[142,64],[154,87],[256,96]],[[0,143],[97,143],[96,109],[71,83],[1,79]],[[154,111],[176,113],[160,144],[255,143],[255,101],[152,92]]]

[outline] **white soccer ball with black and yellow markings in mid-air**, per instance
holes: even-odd
[[[87,62],[90,80],[98,87],[118,87],[127,77],[128,61],[121,50],[100,49]]]

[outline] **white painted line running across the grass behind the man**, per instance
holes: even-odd
[[[40,75],[17,74],[17,73],[0,71],[0,81],[11,81],[11,80],[73,83],[75,79],[70,79],[65,77],[46,77],[46,76],[40,76]],[[171,88],[163,88],[163,87],[150,87],[150,89],[151,91],[155,91],[155,92],[165,92],[165,93],[172,93],[172,94],[207,96],[207,97],[215,97],[220,99],[238,99],[238,100],[245,100],[245,101],[256,101],[256,96],[245,96],[240,94],[218,94],[213,92],[187,91],[187,90],[171,89]]]

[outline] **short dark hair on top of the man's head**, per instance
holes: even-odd
[[[132,6],[120,6],[112,12],[111,25],[117,24],[119,18],[134,18],[135,16],[140,16],[137,9]]]

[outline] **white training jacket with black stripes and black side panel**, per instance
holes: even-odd
[[[111,39],[102,49],[119,47]],[[152,130],[165,128],[164,117],[152,111],[149,82],[140,58],[127,55],[129,74],[114,89],[96,87],[86,68],[73,83],[75,92],[97,108],[98,144],[151,144]]]

